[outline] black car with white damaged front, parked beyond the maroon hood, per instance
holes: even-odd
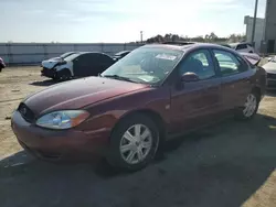
[[[54,66],[43,66],[42,76],[53,79],[70,79],[72,77],[97,76],[113,65],[115,61],[103,53],[78,52],[63,58]]]

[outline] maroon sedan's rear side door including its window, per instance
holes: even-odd
[[[240,56],[223,50],[213,50],[215,64],[222,80],[222,102],[227,111],[242,107],[252,90],[251,77],[254,70]]]

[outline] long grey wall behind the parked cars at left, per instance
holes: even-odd
[[[132,51],[141,44],[124,43],[85,43],[85,44],[61,44],[61,43],[0,43],[0,56],[8,65],[12,64],[40,64],[50,57],[59,56],[66,52],[102,52],[114,55],[120,51]]]

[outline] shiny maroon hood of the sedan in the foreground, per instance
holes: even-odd
[[[146,87],[148,85],[88,77],[49,87],[30,96],[23,102],[38,116],[62,109],[79,109]]]

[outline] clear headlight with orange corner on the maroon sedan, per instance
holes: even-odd
[[[42,116],[36,126],[49,129],[70,129],[82,123],[89,117],[85,110],[62,110]]]

